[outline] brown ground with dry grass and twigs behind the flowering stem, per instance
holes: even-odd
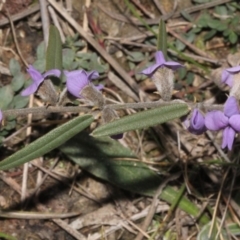
[[[41,63],[39,44],[46,31],[40,11],[49,12],[38,7],[27,14],[37,7],[35,1],[2,2],[0,87],[6,90],[0,95],[11,86],[12,100],[6,103],[10,95],[0,96],[0,107],[7,116],[7,110],[16,111],[16,102],[23,101],[14,97],[25,87],[24,82],[13,85],[20,75],[13,74],[9,63],[18,61],[24,79],[28,79],[24,61]],[[157,40],[151,31],[158,31],[156,19],[168,16],[168,54],[185,67],[175,72],[173,100],[189,106],[203,103],[204,113],[213,104],[223,108],[229,87],[221,83],[222,69],[239,65],[235,1],[63,1],[70,19],[93,42],[76,35],[69,18],[60,16],[52,2],[56,4],[53,0],[48,4],[55,11],[62,40],[67,38],[64,58],[73,54],[64,67],[70,71],[78,64],[98,70],[108,104],[159,100],[151,78],[139,73],[154,61]],[[229,32],[221,30],[224,24]],[[58,93],[62,90],[63,85],[57,86]],[[40,94],[28,100],[19,108],[53,107]],[[194,135],[184,127],[186,119],[176,118],[128,131],[119,140],[96,140],[89,133],[103,124],[101,111],[71,96],[63,104],[88,107],[94,121],[83,133],[27,165],[0,172],[0,239],[215,239],[218,229],[222,230],[216,239],[238,239],[239,137],[234,149],[227,151],[221,149],[221,131]],[[116,113],[121,118],[138,111],[130,107]],[[44,112],[32,118],[19,114],[14,119],[8,115],[2,121],[0,160],[85,113]]]

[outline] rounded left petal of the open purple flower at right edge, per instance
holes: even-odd
[[[228,118],[221,111],[211,111],[205,116],[205,126],[207,129],[217,131],[228,125]]]

